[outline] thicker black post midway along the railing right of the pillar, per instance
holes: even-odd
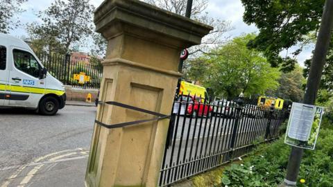
[[[239,96],[236,100],[237,107],[236,107],[236,116],[234,121],[234,128],[232,129],[232,136],[230,140],[230,152],[228,154],[228,160],[232,161],[233,154],[234,154],[234,145],[237,143],[237,131],[239,127],[239,123],[241,122],[241,118],[243,117],[242,110],[243,110],[243,97]]]

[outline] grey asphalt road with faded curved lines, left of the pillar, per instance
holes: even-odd
[[[83,186],[95,116],[96,107],[66,106],[56,116],[0,109],[0,187]]]

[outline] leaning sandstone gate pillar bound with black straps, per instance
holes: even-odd
[[[108,39],[100,100],[169,115],[182,48],[200,44],[212,27],[137,0],[104,1],[94,17]],[[97,120],[117,124],[153,118],[100,105]],[[95,124],[86,186],[157,186],[169,119],[108,129]]]

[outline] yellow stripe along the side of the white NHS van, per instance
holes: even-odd
[[[31,94],[56,94],[57,96],[62,96],[63,94],[65,94],[65,91],[61,91],[61,90],[33,88],[33,87],[20,87],[20,86],[15,86],[15,85],[6,86],[5,84],[0,84],[0,90],[31,93]]]

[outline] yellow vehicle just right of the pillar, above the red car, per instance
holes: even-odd
[[[179,89],[179,95],[190,95],[190,96],[194,96],[196,95],[196,97],[200,97],[205,99],[206,95],[207,95],[207,91],[205,89],[205,87],[200,87],[196,84],[191,84],[189,82],[185,82],[184,80],[182,80],[180,82],[180,89]]]

